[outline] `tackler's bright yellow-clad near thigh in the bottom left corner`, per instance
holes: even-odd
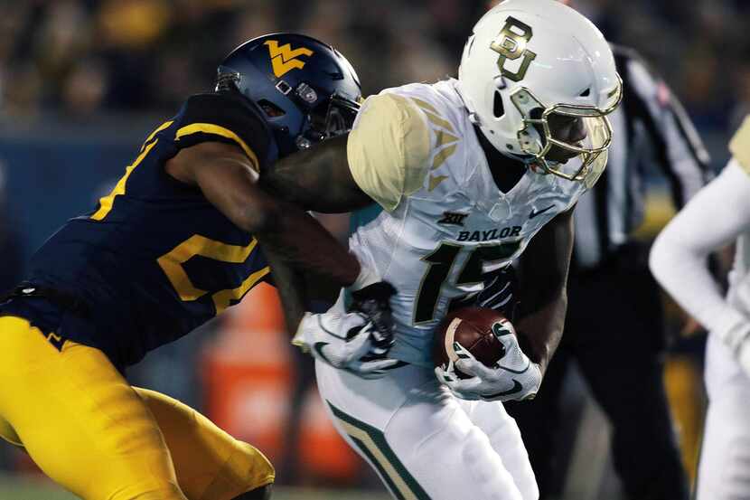
[[[85,500],[184,500],[151,412],[97,349],[58,351],[0,317],[0,415],[42,470]]]

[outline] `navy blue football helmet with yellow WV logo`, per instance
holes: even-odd
[[[279,156],[352,128],[361,86],[349,61],[304,34],[272,33],[243,43],[219,66],[216,90],[238,90],[263,112]]]

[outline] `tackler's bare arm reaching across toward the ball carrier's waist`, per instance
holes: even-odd
[[[167,172],[193,184],[239,228],[253,233],[277,259],[333,280],[340,287],[359,276],[360,264],[331,233],[293,203],[258,186],[258,174],[239,147],[202,143],[170,160]]]

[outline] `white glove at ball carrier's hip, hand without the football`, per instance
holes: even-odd
[[[323,363],[365,379],[383,376],[399,363],[388,359],[372,342],[374,326],[360,313],[305,313],[292,344]]]

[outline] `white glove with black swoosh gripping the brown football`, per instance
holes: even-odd
[[[437,380],[443,382],[455,397],[462,400],[520,401],[530,400],[539,392],[541,371],[539,364],[531,362],[520,350],[518,338],[510,323],[504,328],[493,329],[505,355],[493,367],[477,361],[463,345],[455,343],[458,360],[450,361],[445,369],[435,369]],[[468,375],[468,379],[458,378],[455,370]]]

